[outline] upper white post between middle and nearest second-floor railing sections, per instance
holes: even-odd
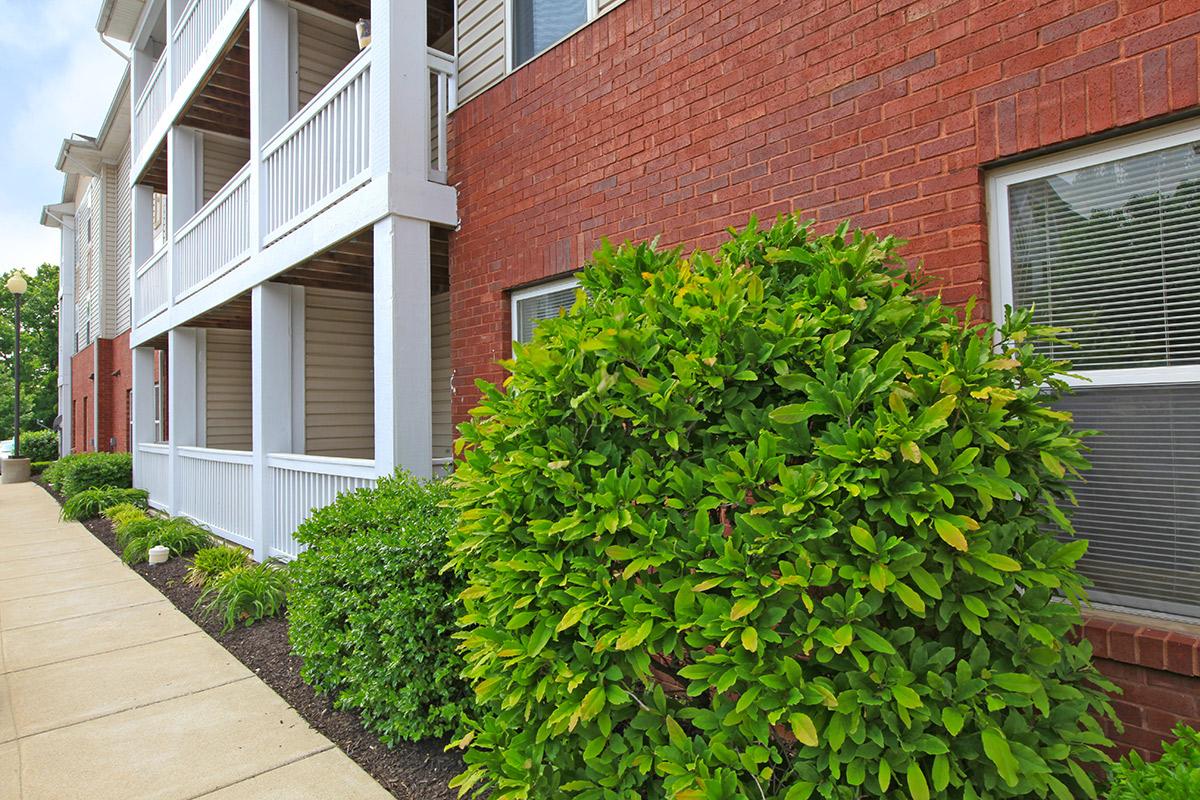
[[[292,112],[288,14],[284,0],[256,0],[250,6],[250,240],[256,252],[268,233],[263,145],[288,124]]]

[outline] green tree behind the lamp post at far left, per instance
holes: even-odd
[[[16,270],[0,276],[0,287]],[[49,428],[58,415],[59,267],[29,278],[20,307],[20,426]],[[0,289],[0,439],[12,438],[13,296]]]

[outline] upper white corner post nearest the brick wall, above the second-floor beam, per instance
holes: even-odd
[[[371,172],[396,179],[392,197],[406,182],[428,180],[425,13],[425,4],[371,0]]]

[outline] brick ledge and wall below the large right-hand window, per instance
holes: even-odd
[[[1124,730],[1105,726],[1114,756],[1136,750],[1157,758],[1177,722],[1200,729],[1200,625],[1093,609],[1081,633],[1097,668],[1123,692],[1112,708]]]

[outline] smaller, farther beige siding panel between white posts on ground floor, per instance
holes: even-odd
[[[217,450],[252,450],[250,331],[205,332],[205,444]]]

